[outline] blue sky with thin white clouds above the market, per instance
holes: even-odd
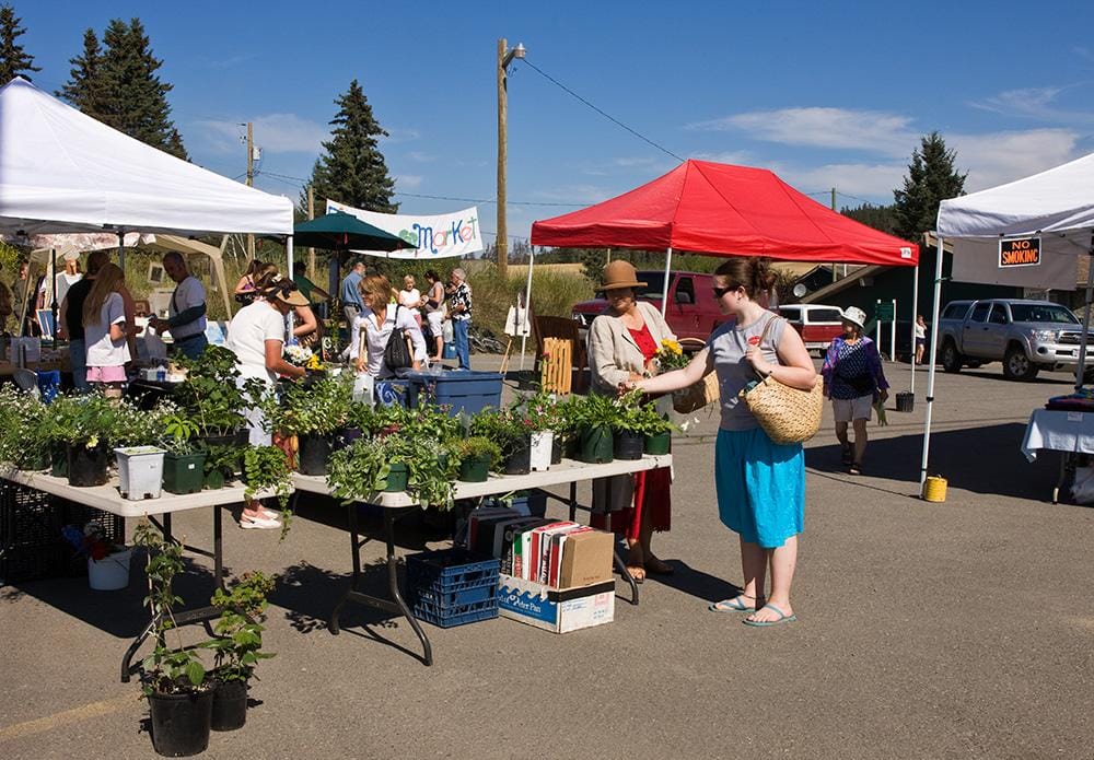
[[[295,199],[358,79],[407,213],[492,200],[497,40],[668,152],[764,166],[841,206],[892,201],[939,130],[976,190],[1094,150],[1094,3],[94,2],[14,0],[48,91],[83,31],[139,16],[191,159]],[[305,14],[302,15],[301,11]],[[521,61],[509,80],[509,231],[645,183],[676,159]],[[286,177],[290,177],[287,179]],[[479,203],[482,229],[496,207]]]

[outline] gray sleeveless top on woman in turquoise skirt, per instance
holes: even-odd
[[[759,424],[748,411],[748,407],[737,398],[737,394],[748,383],[756,379],[752,364],[745,359],[745,351],[750,343],[759,342],[764,328],[771,319],[777,321],[771,325],[771,330],[767,334],[760,348],[767,361],[778,364],[779,356],[775,347],[779,344],[787,320],[779,318],[771,312],[764,312],[758,319],[741,328],[733,323],[722,325],[711,334],[710,340],[707,341],[707,348],[710,349],[711,360],[714,363],[714,372],[718,373],[719,393],[722,396],[722,430],[752,430]]]

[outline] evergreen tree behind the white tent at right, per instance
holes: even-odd
[[[924,232],[934,229],[939,204],[946,198],[964,195],[968,172],[957,171],[956,155],[946,150],[946,142],[938,132],[924,136],[921,145],[912,151],[904,189],[893,192],[898,236],[919,242]]]

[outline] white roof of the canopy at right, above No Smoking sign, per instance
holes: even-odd
[[[938,233],[944,238],[1068,233],[1092,227],[1094,153],[1006,185],[944,200],[938,219]]]

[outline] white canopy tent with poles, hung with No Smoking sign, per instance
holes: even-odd
[[[935,235],[938,257],[931,321],[935,330],[941,305],[943,243],[953,250],[954,280],[1074,290],[1076,257],[1091,256],[1094,264],[1094,153],[1024,179],[942,201]],[[1031,237],[1039,238],[1037,264],[1002,264],[1001,246]],[[1094,266],[1087,267],[1087,272],[1084,325],[1090,324]],[[1075,388],[1083,384],[1086,338],[1084,330]],[[938,340],[932,340],[920,490],[927,480],[930,454],[938,348]]]

